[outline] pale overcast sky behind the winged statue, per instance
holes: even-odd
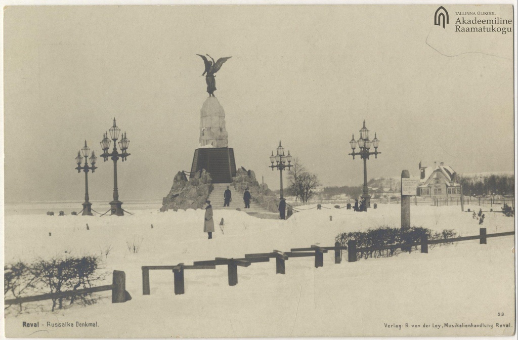
[[[196,53],[233,56],[217,74],[236,165],[270,188],[278,146],[324,186],[356,186],[349,140],[365,119],[381,140],[368,177],[418,175],[434,161],[458,173],[513,170],[513,36],[434,25],[436,6],[8,7],[5,199],[78,200],[74,158],[113,117],[131,140],[118,163],[120,200],[161,199],[198,146],[208,96]],[[487,6],[512,19],[510,6]],[[111,200],[113,162],[89,174]]]

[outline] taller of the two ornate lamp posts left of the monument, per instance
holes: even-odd
[[[110,127],[109,132],[110,138],[113,140],[113,150],[111,153],[108,153],[111,140],[108,138],[108,133],[106,132],[103,135],[103,140],[100,141],[100,146],[104,151],[100,156],[104,158],[105,162],[109,157],[111,157],[113,161],[113,201],[110,202],[111,215],[123,216],[124,210],[122,209],[122,202],[119,201],[119,189],[117,188],[117,161],[119,158],[121,158],[124,162],[131,154],[126,152],[128,145],[130,144],[130,140],[126,138],[126,133],[124,132],[124,134],[122,134],[122,139],[119,140],[119,147],[121,148],[121,153],[119,153],[119,151],[117,151],[117,139],[119,139],[119,133],[121,132],[121,129],[117,127],[115,118],[113,118],[113,126]]]

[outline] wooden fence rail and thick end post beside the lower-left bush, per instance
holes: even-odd
[[[69,296],[102,292],[107,290],[111,290],[111,303],[126,302],[131,300],[131,295],[128,292],[126,292],[126,274],[121,271],[113,271],[111,285],[69,290],[59,293],[25,296],[24,298],[4,300],[4,305],[19,305],[26,302],[62,299],[68,298]]]

